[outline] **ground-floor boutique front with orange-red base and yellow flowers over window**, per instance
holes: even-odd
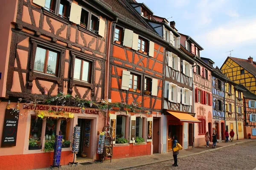
[[[4,113],[8,110],[7,104],[7,102],[0,103],[0,136],[4,136],[3,133],[6,130],[3,127],[5,127]],[[9,110],[16,105],[17,103],[10,103]],[[82,161],[96,159],[98,132],[102,131],[105,125],[103,116],[100,118],[99,111],[93,108],[64,106],[61,107],[61,112],[59,109],[59,106],[49,105],[26,105],[22,108],[20,104],[19,114],[16,114],[18,116],[17,129],[15,129],[17,130],[16,143],[10,147],[3,147],[3,145],[0,147],[2,169],[27,170],[49,167],[53,159],[55,135],[59,132],[63,138],[61,165],[67,165],[73,161],[71,146],[73,127],[76,125],[81,126],[81,137],[79,153],[75,158],[79,159],[81,153],[86,153],[87,156]]]

